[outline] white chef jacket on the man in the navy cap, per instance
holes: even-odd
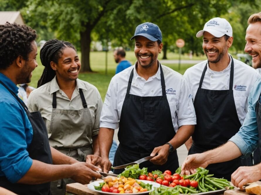
[[[159,63],[159,62],[158,62]],[[100,127],[117,129],[121,118],[121,109],[126,96],[131,66],[116,74],[111,79],[101,111]],[[183,76],[176,71],[162,65],[165,78],[166,95],[170,105],[172,123],[175,132],[182,125],[195,125],[196,114],[191,99],[189,86]],[[162,96],[160,68],[148,80],[133,71],[130,94],[138,96]],[[164,116],[159,116],[164,117]]]

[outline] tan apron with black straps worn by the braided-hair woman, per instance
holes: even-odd
[[[80,110],[57,109],[56,92],[53,93],[49,143],[63,154],[85,162],[86,156],[93,154],[93,121],[82,89],[79,89],[79,93],[83,105],[83,109]],[[70,178],[53,181],[51,192],[57,195],[65,194],[66,184],[74,182]]]

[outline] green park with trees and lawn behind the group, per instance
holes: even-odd
[[[39,58],[41,41],[57,38],[76,46],[82,63],[79,79],[96,86],[102,100],[115,75],[113,49],[123,47],[126,59],[136,61],[130,38],[138,24],[152,22],[160,27],[163,51],[158,59],[183,74],[195,63],[177,63],[177,39],[185,41],[182,60],[205,60],[202,38],[196,38],[196,33],[209,19],[225,18],[233,28],[229,53],[236,58],[244,53],[247,20],[260,10],[260,0],[0,0],[0,11],[20,11],[25,24],[37,31],[38,67],[31,86],[37,87],[44,68]],[[183,145],[177,151],[181,164],[187,149]]]

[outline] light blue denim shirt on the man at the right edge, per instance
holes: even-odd
[[[248,112],[240,130],[228,141],[234,142],[241,153],[242,158],[248,157],[258,146],[258,130],[256,105],[261,93],[261,78],[259,78],[248,96]]]

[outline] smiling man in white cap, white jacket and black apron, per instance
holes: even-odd
[[[250,66],[234,59],[228,48],[233,43],[232,27],[223,18],[209,20],[203,30],[203,50],[207,60],[186,70],[193,95],[197,125],[192,140],[186,143],[189,154],[202,153],[228,141],[238,132],[247,113],[247,98],[259,74]],[[229,152],[229,151],[228,151]],[[240,166],[251,166],[252,159],[211,164],[210,174],[230,180]]]

